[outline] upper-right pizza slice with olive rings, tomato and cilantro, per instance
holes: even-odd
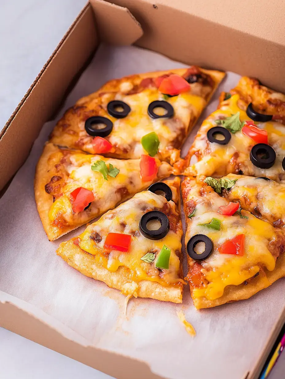
[[[285,95],[248,77],[201,125],[185,160],[184,174],[229,173],[285,180]]]

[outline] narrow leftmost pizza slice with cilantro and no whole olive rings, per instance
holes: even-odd
[[[49,240],[86,224],[171,172],[168,163],[149,155],[118,160],[48,143],[37,164],[34,190]]]

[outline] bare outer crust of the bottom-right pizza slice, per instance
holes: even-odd
[[[217,305],[226,304],[228,302],[246,300],[257,292],[269,287],[276,280],[285,276],[285,254],[280,255],[276,261],[276,266],[273,271],[264,270],[266,276],[260,274],[251,279],[247,285],[241,283],[238,286],[230,285],[225,288],[223,296],[215,300],[207,300],[206,298],[193,298],[193,303],[196,309],[212,308]]]

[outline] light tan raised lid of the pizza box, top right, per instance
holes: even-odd
[[[285,46],[285,28],[282,16],[285,12],[285,3],[279,0],[270,2],[267,0],[258,2],[249,2],[248,0],[235,2],[228,0],[218,2],[210,0],[176,2],[173,0],[136,0],[135,2],[133,0],[115,0],[115,2],[127,6],[134,16],[136,14],[132,11],[132,7],[139,7],[140,3],[149,3],[148,12],[153,11],[153,8],[159,9],[160,6],[168,6],[170,13],[173,12],[173,9],[177,9]]]

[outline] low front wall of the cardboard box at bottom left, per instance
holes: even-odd
[[[37,313],[41,313],[44,321],[36,318],[32,314],[33,305],[26,303],[31,310],[31,312],[27,312],[21,309],[19,305],[14,304],[12,296],[0,291],[0,297],[11,299],[11,301],[0,302],[0,325],[5,329],[117,379],[164,379],[154,374],[145,362],[86,345],[86,340],[83,337],[59,321],[52,319],[43,311],[37,309]],[[15,300],[17,303],[22,302],[16,298]],[[65,331],[72,339],[56,330],[55,327],[48,325],[49,320],[50,323],[56,321],[58,328]]]

